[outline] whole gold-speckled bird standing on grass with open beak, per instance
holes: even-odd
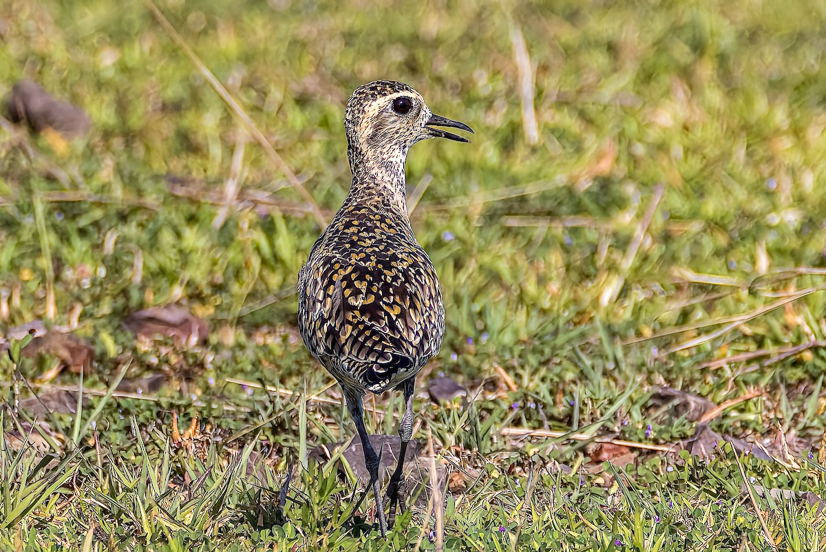
[[[392,519],[413,433],[415,378],[444,336],[439,278],[407,212],[405,161],[421,140],[470,142],[443,128],[473,133],[462,122],[434,115],[405,83],[377,80],[355,89],[344,110],[349,193],[297,279],[301,338],[339,383],[362,444],[369,482],[354,511],[372,490],[382,535],[387,521],[380,461],[364,426],[363,397],[389,389],[404,397],[400,454],[386,496]]]

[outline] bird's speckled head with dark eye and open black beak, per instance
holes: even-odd
[[[470,141],[436,126],[473,132],[462,122],[434,115],[420,93],[391,80],[377,80],[356,88],[344,112],[350,149],[368,155],[375,152],[384,159],[404,159],[411,145],[428,138]]]

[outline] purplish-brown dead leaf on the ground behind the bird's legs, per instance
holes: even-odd
[[[382,482],[386,482],[392,474],[392,470],[396,469],[396,459],[399,456],[401,443],[398,435],[370,435],[370,443],[373,449],[382,459],[378,467],[379,478]],[[344,445],[343,443],[335,443],[332,445],[321,445],[312,450],[309,454],[310,459],[316,460],[320,464],[325,464],[330,460],[333,451]],[[367,467],[364,464],[364,455],[362,451],[361,440],[355,438],[350,441],[349,446],[342,451],[342,456],[347,459],[350,469],[353,470],[354,475],[362,484],[367,484],[370,478]],[[344,465],[339,463],[339,473],[344,475]],[[413,439],[410,445],[407,446],[405,454],[405,464],[403,468],[406,477],[405,488],[403,490],[403,497],[415,498],[415,507],[426,507],[430,498],[430,459],[425,454],[425,444],[420,440]],[[436,477],[440,488],[444,488],[447,470],[444,465],[437,463]],[[411,505],[413,506],[413,505]]]

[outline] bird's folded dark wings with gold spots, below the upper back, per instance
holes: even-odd
[[[308,274],[306,338],[342,360],[366,387],[381,387],[439,350],[444,307],[430,259],[404,263],[323,259]],[[314,307],[311,307],[314,306]]]

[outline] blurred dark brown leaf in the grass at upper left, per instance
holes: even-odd
[[[6,102],[6,116],[12,122],[26,123],[34,131],[54,129],[66,138],[86,134],[92,126],[83,109],[53,98],[31,80],[14,85]]]

